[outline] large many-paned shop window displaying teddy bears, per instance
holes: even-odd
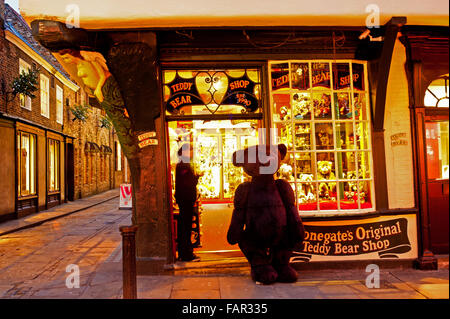
[[[302,213],[373,210],[366,64],[269,62],[273,141],[288,155],[278,172]]]

